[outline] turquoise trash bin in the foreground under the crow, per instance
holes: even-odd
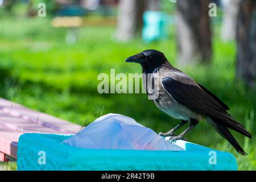
[[[229,152],[183,140],[184,151],[96,150],[62,143],[72,135],[23,134],[18,170],[237,170]]]

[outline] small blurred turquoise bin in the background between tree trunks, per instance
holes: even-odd
[[[161,11],[146,11],[143,14],[142,39],[152,42],[167,37],[168,15]]]

